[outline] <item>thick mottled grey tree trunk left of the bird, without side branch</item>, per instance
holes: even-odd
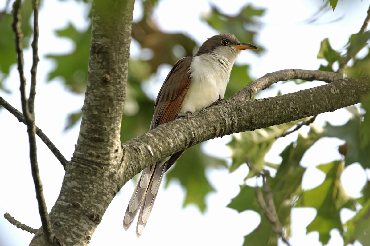
[[[77,145],[50,220],[61,245],[87,245],[120,190],[120,128],[134,0],[95,0],[87,90]],[[38,230],[30,245],[47,245]]]

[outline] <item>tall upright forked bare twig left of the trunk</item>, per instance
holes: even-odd
[[[36,88],[36,68],[37,68],[37,40],[32,42],[33,48],[33,66],[31,72],[32,80],[31,80],[31,92],[30,98],[26,97],[26,78],[24,77],[23,72],[23,47],[22,47],[22,32],[21,32],[21,22],[20,22],[20,6],[21,1],[16,0],[13,4],[13,31],[16,36],[16,51],[17,51],[17,59],[18,59],[18,70],[20,76],[20,92],[21,92],[21,105],[22,111],[25,119],[25,123],[27,125],[27,132],[28,132],[28,139],[30,142],[30,162],[31,162],[31,173],[35,185],[36,190],[36,198],[38,203],[38,212],[40,213],[41,224],[44,231],[46,242],[49,245],[53,245],[53,232],[51,230],[50,218],[47,212],[45,198],[43,194],[43,185],[40,179],[40,173],[38,171],[38,164],[37,164],[37,149],[36,149],[36,125],[35,125],[35,115],[34,115],[34,96],[35,96],[35,88]],[[33,0],[33,11],[34,11],[34,39],[38,38],[38,0]],[[36,54],[36,55],[35,55]],[[37,61],[35,62],[35,58]]]

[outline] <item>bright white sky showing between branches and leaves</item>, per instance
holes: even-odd
[[[209,11],[208,3],[211,2],[222,9],[225,13],[236,14],[239,8],[245,3],[253,3],[255,7],[265,7],[267,11],[261,18],[264,23],[257,36],[258,41],[264,45],[266,51],[262,56],[256,56],[254,52],[242,52],[238,63],[248,63],[251,66],[252,75],[257,78],[268,72],[281,69],[317,69],[320,61],[316,55],[320,48],[320,42],[329,37],[333,48],[342,49],[348,40],[349,35],[359,31],[366,16],[370,0],[339,1],[338,8],[328,11],[319,23],[320,25],[305,24],[305,20],[316,12],[322,1],[312,0],[266,0],[266,1],[170,1],[162,0],[155,10],[155,17],[160,27],[165,31],[181,31],[196,38],[201,44],[206,38],[216,34],[205,23],[201,22],[200,15]],[[313,4],[312,2],[316,3]],[[55,63],[43,57],[46,53],[64,53],[70,51],[74,45],[70,41],[56,39],[53,30],[65,27],[72,22],[77,28],[85,28],[88,23],[84,16],[87,14],[82,9],[83,5],[74,0],[43,1],[44,7],[40,11],[40,38],[39,53],[40,62],[38,69],[38,87],[36,95],[36,124],[54,142],[67,159],[73,154],[74,144],[77,141],[79,126],[64,132],[66,114],[80,109],[83,105],[84,96],[69,93],[64,90],[63,83],[55,79],[53,83],[46,83],[47,72]],[[134,20],[140,18],[140,1],[137,1],[134,10]],[[0,8],[3,8],[3,3]],[[197,6],[196,8],[194,6]],[[181,11],[174,11],[175,9]],[[340,21],[331,23],[337,17],[342,16]],[[176,21],[175,21],[176,20]],[[182,20],[182,21],[178,21]],[[238,37],[241,42],[250,42]],[[132,47],[133,56],[139,55],[138,49]],[[30,70],[31,52],[25,52],[26,69]],[[170,67],[164,66],[157,79],[157,83],[148,83],[155,88],[161,84]],[[29,75],[26,74],[28,81]],[[261,97],[275,96],[276,90],[282,93],[305,89],[309,86],[317,86],[318,83],[306,83],[297,88],[293,83],[278,84],[275,90],[263,91]],[[20,109],[19,80],[16,66],[12,67],[10,78],[6,80],[5,87],[12,91],[12,94],[4,94],[4,97],[11,105]],[[158,88],[159,90],[159,88]],[[154,94],[157,94],[154,93]],[[155,95],[154,95],[155,96]],[[67,102],[67,103],[66,103]],[[348,117],[345,110],[329,112],[317,117],[316,123],[322,125],[324,120],[332,124],[343,124]],[[148,122],[149,127],[150,122]],[[283,144],[293,141],[296,135],[292,134],[279,143],[268,157],[270,162],[279,162],[276,153],[284,148]],[[17,122],[15,117],[5,110],[0,111],[0,214],[9,212],[14,218],[33,228],[41,225],[38,215],[37,201],[34,192],[33,180],[28,159],[28,139],[26,127]],[[203,145],[208,152],[218,146],[217,153],[213,155],[228,156],[228,149],[223,147],[229,137],[208,141]],[[307,153],[302,166],[309,167],[307,177],[303,180],[304,188],[313,188],[319,185],[324,175],[314,168],[315,165],[326,163],[337,159],[336,148],[342,141],[330,139],[325,144],[326,148],[320,145],[314,146]],[[57,199],[64,170],[50,150],[41,141],[37,142],[38,162],[41,179],[43,181],[44,194],[48,211],[52,208]],[[322,146],[322,145],[321,145]],[[314,154],[313,154],[314,153]],[[354,197],[366,181],[366,173],[358,164],[347,168],[343,174],[344,188]],[[148,225],[143,235],[138,239],[135,235],[135,226],[127,232],[122,228],[122,220],[129,198],[134,188],[134,182],[128,182],[117,194],[108,207],[101,224],[98,226],[90,245],[149,245],[161,243],[161,245],[242,245],[243,236],[253,231],[259,224],[259,215],[252,211],[245,211],[238,214],[236,211],[226,208],[230,199],[239,192],[239,184],[248,173],[246,166],[240,167],[237,171],[229,174],[227,170],[208,170],[208,178],[216,193],[208,195],[206,204],[207,211],[204,215],[194,205],[182,208],[184,193],[178,182],[172,182],[164,190],[161,188],[156,200],[156,205],[151,214]],[[369,176],[369,171],[367,171]],[[356,179],[353,176],[356,175]],[[249,184],[255,184],[250,180]],[[290,239],[292,245],[321,245],[318,242],[317,232],[305,235],[305,227],[312,221],[316,211],[314,209],[293,209],[292,228],[293,235]],[[350,211],[343,211],[343,220],[352,216]],[[135,222],[134,222],[135,223]],[[332,231],[333,238],[329,241],[331,246],[343,245],[337,230]],[[26,245],[30,242],[32,235],[21,231],[10,225],[5,219],[0,219],[0,240],[7,239],[7,245]],[[282,244],[280,244],[282,245]],[[355,243],[354,245],[359,245]]]

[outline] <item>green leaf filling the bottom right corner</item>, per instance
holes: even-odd
[[[370,245],[370,200],[363,208],[346,222],[347,232],[344,234],[344,245],[358,240],[363,246]]]

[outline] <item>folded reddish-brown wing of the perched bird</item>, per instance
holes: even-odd
[[[168,73],[155,101],[150,129],[176,118],[191,82],[189,67],[192,57],[178,60]]]

